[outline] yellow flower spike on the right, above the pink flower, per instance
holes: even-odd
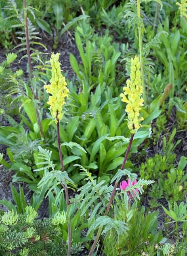
[[[121,93],[120,97],[122,97],[123,102],[128,103],[125,111],[128,114],[128,128],[132,131],[142,127],[139,122],[143,120],[143,117],[139,118],[139,110],[143,106],[143,98],[141,98],[143,88],[141,86],[139,57],[131,58],[130,62],[130,80],[126,81],[127,86],[123,88],[124,93]],[[125,95],[128,95],[128,99]]]

